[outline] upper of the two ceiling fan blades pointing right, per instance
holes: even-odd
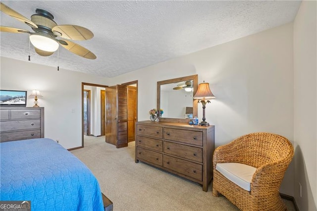
[[[58,25],[52,31],[54,35],[69,40],[90,40],[94,37],[89,29],[76,25]]]

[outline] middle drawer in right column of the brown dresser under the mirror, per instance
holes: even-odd
[[[164,141],[164,153],[203,162],[203,149]]]

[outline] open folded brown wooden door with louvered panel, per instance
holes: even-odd
[[[106,88],[106,142],[117,148],[128,146],[127,86]]]

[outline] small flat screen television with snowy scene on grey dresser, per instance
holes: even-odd
[[[27,91],[0,90],[0,106],[26,106]]]

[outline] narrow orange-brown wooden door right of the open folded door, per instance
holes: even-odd
[[[136,92],[136,87],[128,86],[128,142],[135,140]]]

